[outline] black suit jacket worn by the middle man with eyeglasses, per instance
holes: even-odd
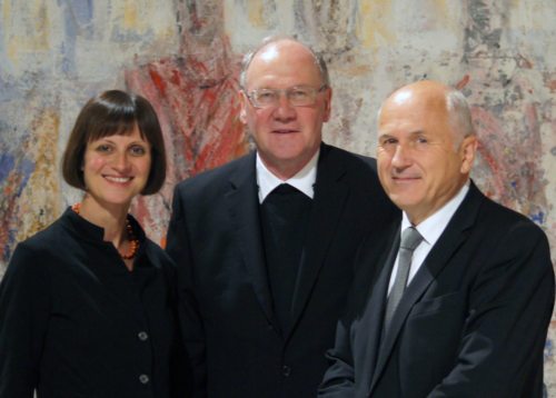
[[[357,247],[398,210],[379,185],[374,159],[321,146],[294,321],[280,332],[264,260],[255,159],[250,153],[175,191],[167,250],[180,273],[196,390],[226,398],[311,397],[327,368]]]

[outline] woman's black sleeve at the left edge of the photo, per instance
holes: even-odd
[[[0,283],[0,397],[32,398],[39,378],[50,293],[44,263],[24,242]]]

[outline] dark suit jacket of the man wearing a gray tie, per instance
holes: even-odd
[[[399,225],[390,250],[361,246],[319,397],[542,397],[554,271],[540,228],[471,182],[381,336]]]

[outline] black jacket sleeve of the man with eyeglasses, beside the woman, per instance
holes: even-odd
[[[180,186],[175,190],[167,237],[167,252],[178,273],[179,321],[193,374],[193,397],[207,396],[206,341],[202,318],[195,293],[193,259],[186,219],[186,199]]]

